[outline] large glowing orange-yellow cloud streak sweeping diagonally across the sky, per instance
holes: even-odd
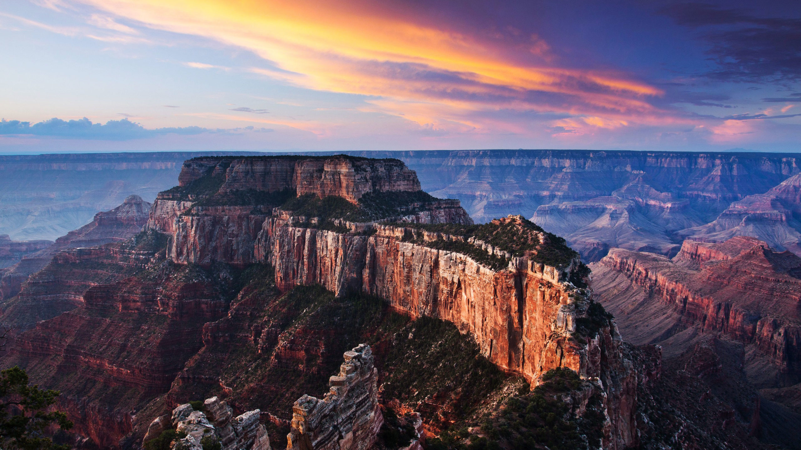
[[[275,66],[252,71],[296,86],[386,98],[394,106],[431,103],[439,107],[429,110],[447,116],[414,114],[418,123],[501,108],[588,115],[605,123],[662,114],[647,102],[661,90],[620,74],[549,65],[549,46],[536,36],[530,53],[540,65],[524,65],[472,36],[392,17],[372,2],[80,1],[155,29],[252,50]],[[396,107],[386,112],[403,115]]]

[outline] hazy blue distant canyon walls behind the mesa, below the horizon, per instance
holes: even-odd
[[[779,250],[791,251],[801,236],[799,220],[795,219],[798,214],[793,212],[797,209],[793,205],[798,203],[771,191],[799,174],[799,156],[795,154],[556,150],[346,153],[400,159],[417,172],[423,190],[436,197],[459,199],[477,223],[509,214],[532,219],[546,231],[565,237],[587,263],[598,261],[614,247],[672,257],[687,236],[720,241],[751,235],[779,245],[775,247]],[[0,222],[0,233],[9,234],[11,239],[55,239],[86,223],[95,211],[119,204],[126,195],[137,194],[150,202],[156,192],[171,187],[183,159],[192,156],[199,155],[0,157],[0,171],[8,175],[3,182],[7,181],[7,186],[0,183],[4,208],[0,217],[5,221]],[[91,176],[76,176],[80,174]],[[791,186],[783,189],[791,190]],[[760,195],[778,197],[771,200]]]

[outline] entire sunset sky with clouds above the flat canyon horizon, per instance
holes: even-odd
[[[801,151],[801,2],[0,2],[0,153]]]

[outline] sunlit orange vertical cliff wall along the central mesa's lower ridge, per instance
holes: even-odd
[[[566,272],[528,259],[493,271],[453,251],[401,242],[404,234],[378,227],[371,236],[342,235],[268,219],[257,257],[276,267],[282,289],[320,283],[337,294],[363,291],[413,318],[455,323],[490,361],[533,384],[558,367],[599,377],[608,389],[615,433],[608,436],[610,445],[636,442],[636,388],[647,376],[631,368],[614,327],[583,344],[572,339],[586,303],[581,292],[561,283]]]

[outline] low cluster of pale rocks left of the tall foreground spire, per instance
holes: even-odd
[[[202,450],[203,444],[218,442],[222,450],[270,450],[270,438],[259,417],[258,409],[234,417],[233,409],[217,397],[206,399],[203,411],[195,411],[191,404],[179,405],[172,412],[172,426],[186,436],[175,440],[172,448]],[[151,428],[162,427],[163,421],[156,418]]]

